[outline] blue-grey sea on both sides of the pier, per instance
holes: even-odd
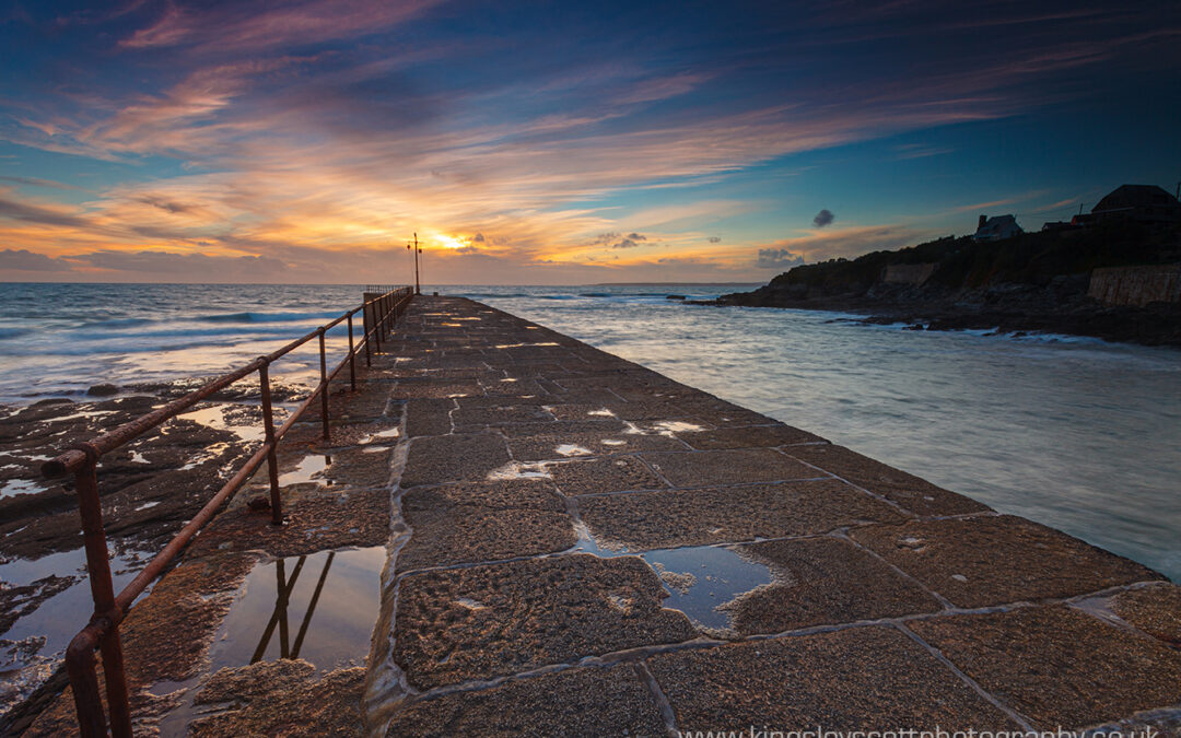
[[[753,286],[750,286],[753,288]],[[1181,582],[1181,350],[718,308],[729,285],[430,286],[1140,561]],[[226,371],[363,286],[0,285],[0,404]],[[358,334],[360,333],[358,328]],[[274,367],[314,381],[309,348]],[[347,346],[344,327],[328,351]]]

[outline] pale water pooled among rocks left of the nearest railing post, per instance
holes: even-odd
[[[130,582],[146,561],[137,551],[112,557],[115,590]],[[27,586],[35,586],[38,593],[13,602],[13,609],[21,610],[27,602],[31,612],[0,634],[0,714],[32,694],[57,671],[66,646],[94,610],[81,548],[0,563],[0,587]],[[30,600],[45,593],[52,594],[39,606],[32,605]]]

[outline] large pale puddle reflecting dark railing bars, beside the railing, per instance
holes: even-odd
[[[188,732],[201,717],[194,707],[198,685],[221,668],[276,659],[304,659],[320,673],[363,666],[380,608],[386,557],[385,547],[374,546],[256,564],[218,627],[202,672],[149,690],[156,695],[185,691],[181,705],[161,720],[161,734]]]

